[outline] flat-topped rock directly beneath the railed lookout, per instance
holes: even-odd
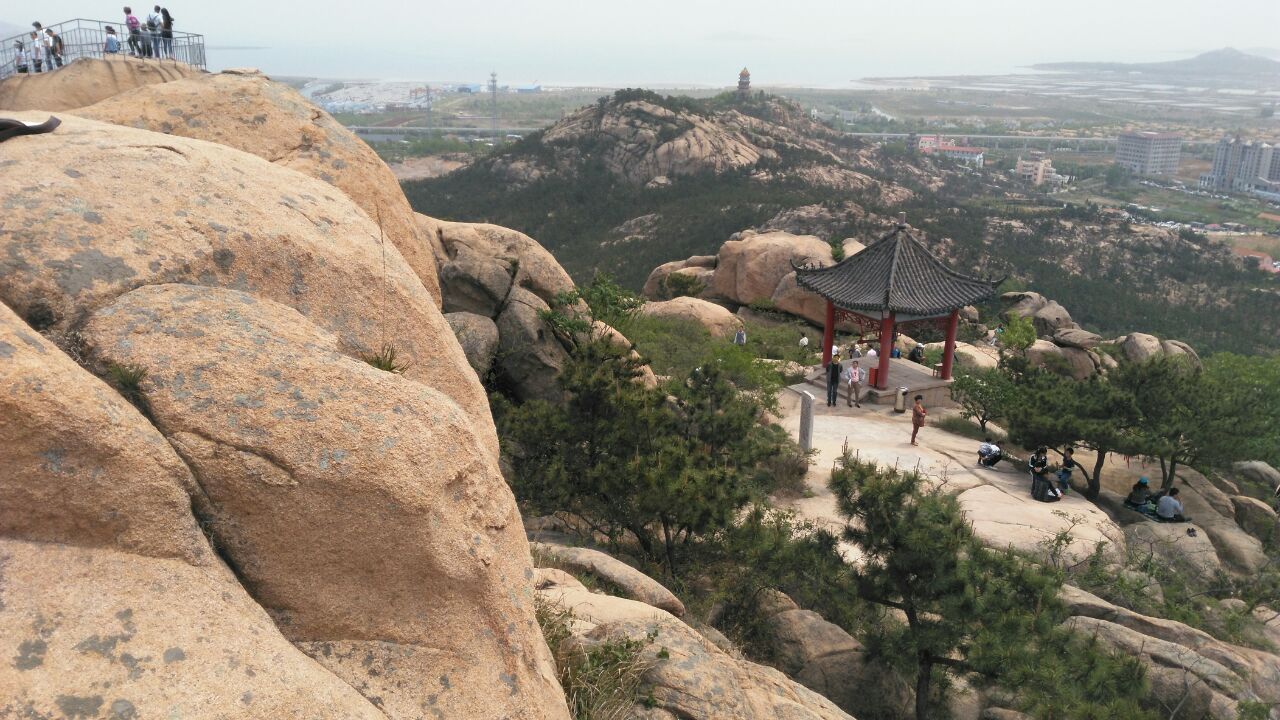
[[[0,79],[0,110],[70,110],[200,72],[180,63],[148,63],[123,55],[82,58],[56,73],[14,74]]]

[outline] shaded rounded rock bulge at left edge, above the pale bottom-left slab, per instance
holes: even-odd
[[[3,537],[214,562],[164,437],[4,305],[0,466]]]

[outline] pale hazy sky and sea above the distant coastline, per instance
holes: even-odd
[[[152,0],[154,3],[154,0]],[[214,65],[274,74],[504,83],[847,86],[868,76],[1010,72],[1053,60],[1169,60],[1280,45],[1280,0],[200,0],[166,5]],[[1052,8],[1052,9],[1051,9]],[[20,10],[19,10],[20,9]],[[38,9],[41,18],[17,13]],[[143,9],[136,6],[137,14]],[[28,26],[118,19],[101,0],[5,3]]]

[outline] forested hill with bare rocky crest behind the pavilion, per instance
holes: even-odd
[[[428,215],[529,233],[579,282],[603,270],[632,288],[654,266],[714,254],[746,228],[868,242],[906,211],[956,269],[1009,275],[1100,333],[1280,348],[1280,287],[1226,247],[1093,208],[1028,202],[1005,184],[840,136],[772,96],[625,90],[404,191]]]

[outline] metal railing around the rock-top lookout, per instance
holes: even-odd
[[[115,29],[115,38],[119,41],[119,50],[115,53],[108,53],[106,50],[108,26]],[[206,67],[205,36],[192,32],[179,32],[174,29],[169,32],[172,37],[165,37],[163,31],[150,31],[143,23],[141,33],[131,36],[129,29],[123,22],[90,20],[84,18],[76,18],[74,20],[67,20],[45,27],[52,28],[52,31],[63,38],[61,67],[67,67],[68,64],[82,58],[111,56],[134,56],[155,63],[183,63],[200,69],[205,69]],[[46,59],[44,38],[35,42],[33,47],[29,31],[0,40],[0,79],[18,72],[18,51],[14,46],[15,41],[22,41],[27,50],[28,73],[36,72],[35,64],[32,63],[32,56],[36,53],[40,54],[41,60]],[[42,72],[56,72],[58,69],[60,68],[56,61],[52,68],[50,68],[46,61]]]

